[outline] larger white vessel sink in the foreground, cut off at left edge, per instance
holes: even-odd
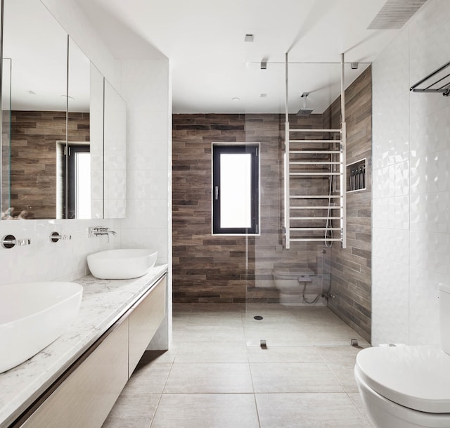
[[[0,373],[60,337],[77,316],[82,294],[76,283],[0,285]]]

